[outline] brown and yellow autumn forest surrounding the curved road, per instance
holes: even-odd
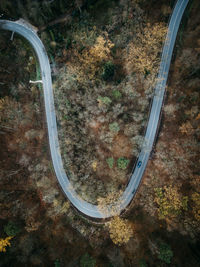
[[[106,214],[145,142],[174,0],[1,0],[34,26],[51,65],[64,169]],[[49,149],[40,67],[0,29],[0,267],[200,265],[200,5],[190,0],[155,145],[131,204],[94,220],[63,194]],[[110,212],[110,211],[109,211]]]

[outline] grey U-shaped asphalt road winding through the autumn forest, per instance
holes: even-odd
[[[172,52],[176,41],[179,25],[189,0],[178,0],[173,10],[166,40],[163,46],[162,58],[159,68],[157,84],[155,86],[153,102],[151,106],[151,113],[145,133],[145,142],[138,156],[136,167],[130,177],[128,186],[123,192],[120,199],[117,201],[118,212],[123,211],[133,199],[136,190],[141,182],[142,176],[146,169],[151,150],[153,148],[156,132],[159,127],[159,119],[165,94],[165,87],[168,78]],[[41,68],[42,83],[44,91],[44,102],[46,119],[48,126],[49,145],[51,157],[53,161],[54,170],[60,186],[64,194],[71,201],[71,203],[83,214],[92,218],[108,218],[112,213],[102,213],[96,205],[92,205],[80,198],[71,186],[69,179],[63,168],[58,131],[56,124],[56,112],[54,106],[54,96],[52,89],[51,69],[49,59],[43,43],[38,37],[34,27],[25,23],[22,20],[13,22],[8,20],[0,20],[0,29],[16,32],[26,38],[34,48]]]

